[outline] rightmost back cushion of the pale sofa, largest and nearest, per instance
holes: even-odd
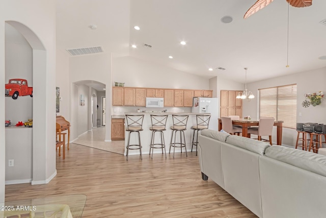
[[[323,155],[283,146],[271,146],[266,149],[265,156],[326,176],[326,156]]]

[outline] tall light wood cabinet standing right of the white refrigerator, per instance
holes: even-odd
[[[238,115],[242,117],[242,100],[237,99],[239,91],[221,90],[220,115]]]

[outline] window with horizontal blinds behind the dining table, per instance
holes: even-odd
[[[283,127],[296,128],[296,84],[259,90],[259,117],[273,116]]]

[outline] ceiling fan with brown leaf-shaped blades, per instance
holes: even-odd
[[[274,0],[258,0],[251,8],[244,14],[243,18],[246,19],[250,15],[256,13],[260,9],[263,9]],[[286,0],[291,6],[296,8],[303,8],[312,5],[312,0]]]

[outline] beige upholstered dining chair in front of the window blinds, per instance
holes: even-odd
[[[249,128],[248,135],[254,134],[258,135],[258,140],[262,140],[261,136],[268,136],[269,140],[263,139],[264,141],[269,141],[269,144],[272,145],[271,142],[271,134],[273,133],[275,119],[273,117],[260,117],[259,125],[257,127]]]

